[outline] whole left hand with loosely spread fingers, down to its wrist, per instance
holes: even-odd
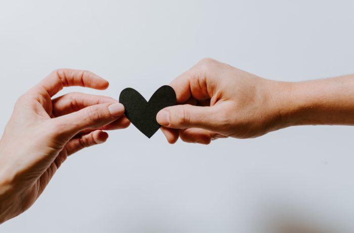
[[[59,69],[18,99],[0,140],[0,223],[27,210],[70,154],[105,142],[102,130],[129,126],[123,105],[110,97],[69,93],[52,100],[63,87],[108,85],[88,71]]]

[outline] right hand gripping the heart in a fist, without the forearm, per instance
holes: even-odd
[[[283,103],[291,83],[262,79],[210,58],[170,86],[180,105],[158,112],[168,142],[209,144],[212,139],[252,138],[285,127]]]

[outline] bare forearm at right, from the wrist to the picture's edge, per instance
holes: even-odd
[[[354,125],[354,74],[290,83],[284,124]]]

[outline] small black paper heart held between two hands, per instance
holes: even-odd
[[[161,127],[156,121],[157,112],[176,104],[176,93],[170,86],[162,86],[151,96],[149,102],[132,88],[125,88],[119,95],[125,107],[125,116],[148,138]]]

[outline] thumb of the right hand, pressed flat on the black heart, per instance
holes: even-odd
[[[217,105],[210,107],[190,104],[166,107],[156,115],[156,121],[167,128],[187,129],[202,128],[219,131],[223,122]]]

